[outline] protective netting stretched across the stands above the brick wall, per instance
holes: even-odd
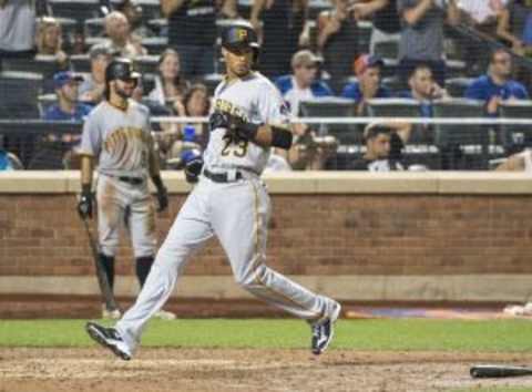
[[[257,70],[306,124],[298,151],[274,169],[354,168],[377,117],[396,117],[390,154],[401,167],[488,169],[532,143],[530,0],[172,3],[0,0],[2,162],[75,168],[82,118],[120,54],[143,75],[135,99],[172,117],[154,130],[163,163],[181,167],[182,151],[206,142],[203,120],[185,117],[207,114],[224,73],[218,35],[238,18],[259,33]]]

